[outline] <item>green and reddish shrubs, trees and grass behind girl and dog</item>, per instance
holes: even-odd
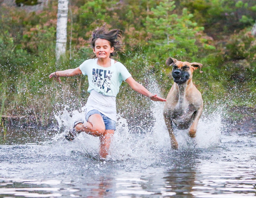
[[[156,83],[160,94],[167,96],[173,83],[171,68],[165,65],[170,56],[200,62],[203,73],[196,70],[193,82],[202,93],[205,108],[216,104],[235,115],[243,113],[241,109],[255,112],[254,1],[70,0],[70,48],[55,64],[57,4],[52,0],[43,11],[30,13],[22,7],[0,7],[3,132],[8,116],[18,115],[28,125],[49,126],[55,122],[54,113],[79,109],[86,103],[86,77],[63,78],[59,85],[48,76],[90,58],[90,35],[104,23],[109,29],[125,32],[126,51],[116,59],[145,87],[155,91],[151,85]],[[143,119],[153,118],[148,98],[123,84],[117,101],[118,112],[132,125],[151,125],[150,119]]]

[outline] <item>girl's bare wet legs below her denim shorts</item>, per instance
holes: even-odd
[[[110,146],[111,139],[115,130],[106,130],[103,118],[100,114],[93,114],[89,117],[88,122],[78,123],[75,126],[76,132],[85,132],[87,134],[100,138],[99,155],[106,158]]]

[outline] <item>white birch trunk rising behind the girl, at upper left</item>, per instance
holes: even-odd
[[[65,54],[67,47],[68,0],[58,0],[57,32],[55,57],[56,62]]]

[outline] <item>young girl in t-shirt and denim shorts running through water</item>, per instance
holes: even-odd
[[[49,76],[50,79],[54,78],[58,82],[61,82],[60,77],[81,74],[88,76],[90,96],[86,103],[86,122],[76,121],[73,131],[67,132],[65,137],[71,141],[76,133],[81,132],[99,137],[101,158],[107,157],[111,138],[116,130],[116,96],[123,81],[134,91],[151,100],[166,101],[137,83],[122,63],[110,58],[117,51],[121,51],[118,40],[121,36],[122,31],[118,29],[107,31],[105,26],[96,29],[91,38],[91,46],[96,58],[88,59],[74,69],[56,71]]]

